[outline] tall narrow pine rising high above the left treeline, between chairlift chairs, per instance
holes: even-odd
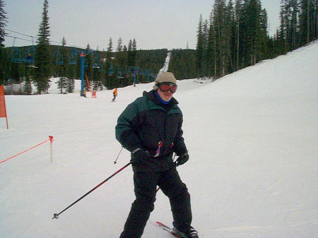
[[[51,64],[49,58],[49,3],[44,1],[42,22],[37,35],[37,50],[35,54],[35,66],[37,66],[35,85],[37,93],[47,92],[49,89],[49,76],[51,76]]]

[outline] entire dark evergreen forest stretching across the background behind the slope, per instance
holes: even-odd
[[[196,49],[171,50],[137,50],[135,39],[124,45],[121,38],[114,48],[112,37],[106,50],[90,49],[89,43],[85,49],[73,47],[64,38],[52,42],[48,0],[43,3],[38,35],[28,40],[30,44],[5,47],[4,37],[13,30],[6,29],[4,9],[5,1],[0,0],[0,85],[23,83],[19,93],[25,95],[32,94],[31,83],[35,93],[47,93],[52,77],[59,78],[61,93],[73,93],[74,80],[83,77],[83,67],[93,90],[148,83],[155,80],[169,51],[169,71],[177,79],[216,80],[317,40],[316,0],[281,0],[280,25],[273,36],[269,36],[260,0],[216,0],[208,19],[199,16]]]

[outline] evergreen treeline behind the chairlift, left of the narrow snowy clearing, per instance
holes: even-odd
[[[72,93],[74,80],[87,76],[93,90],[119,88],[132,83],[153,81],[162,68],[167,56],[167,49],[137,50],[136,40],[129,40],[123,45],[119,37],[114,52],[112,37],[107,50],[92,50],[69,47],[66,39],[61,45],[52,45],[49,41],[49,3],[44,0],[42,21],[36,44],[26,47],[4,47],[6,12],[4,1],[0,0],[0,85],[23,83],[26,95],[33,93],[32,84],[38,94],[47,93],[49,78],[59,78],[57,86],[61,93]],[[23,35],[23,34],[22,34]],[[16,40],[16,37],[14,37]],[[81,54],[84,56],[81,57]],[[84,66],[81,65],[84,59]],[[83,68],[84,71],[83,71]],[[84,89],[87,89],[86,80]]]

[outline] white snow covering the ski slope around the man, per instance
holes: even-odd
[[[201,238],[318,237],[318,42],[218,81],[178,81],[190,160],[178,167]],[[56,79],[54,79],[56,81]],[[114,138],[122,110],[153,83],[59,95],[6,96],[0,119],[0,237],[118,238],[134,200],[131,167],[53,219],[129,162]],[[80,89],[76,82],[76,92]],[[88,95],[90,95],[88,93]],[[158,191],[143,238],[166,237]]]

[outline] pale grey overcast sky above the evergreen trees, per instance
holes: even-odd
[[[31,44],[42,20],[43,0],[4,0],[8,35],[4,44]],[[278,28],[279,0],[261,0],[269,17],[269,35]],[[49,0],[49,27],[52,44],[65,37],[66,44],[107,49],[112,37],[114,51],[119,37],[124,45],[136,39],[137,49],[189,49],[196,47],[200,14],[208,19],[211,0]],[[14,32],[12,32],[14,31]],[[25,35],[16,34],[15,32]]]

